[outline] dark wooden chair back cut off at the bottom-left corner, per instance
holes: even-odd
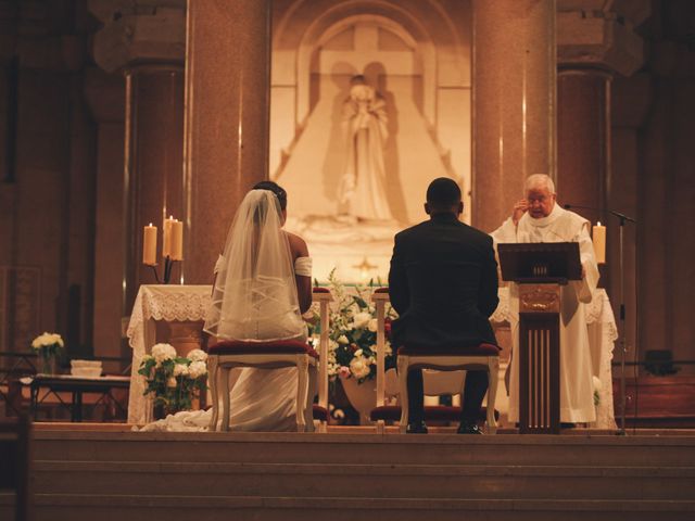
[[[14,519],[31,519],[31,422],[27,415],[0,421],[0,490],[14,491]]]

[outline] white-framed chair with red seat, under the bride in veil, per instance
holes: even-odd
[[[326,430],[328,421],[328,369],[320,364],[320,379],[317,379],[319,358],[328,360],[328,304],[331,301],[327,289],[314,291],[314,298],[320,303],[321,338],[319,353],[307,343],[298,341],[242,342],[223,341],[208,350],[207,367],[210,391],[212,395],[213,417],[210,430],[217,430],[219,419],[219,393],[222,392],[223,417],[222,431],[229,430],[230,404],[229,372],[237,367],[261,369],[278,369],[282,367],[298,368],[296,393],[296,430],[299,432],[314,430],[314,416],[319,418],[319,431]],[[318,382],[317,382],[318,380]],[[319,386],[319,404],[314,407],[316,385]]]

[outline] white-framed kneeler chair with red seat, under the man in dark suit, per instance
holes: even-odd
[[[452,350],[417,350],[401,347],[399,350],[399,387],[401,405],[384,405],[386,376],[386,304],[389,302],[388,288],[378,288],[372,294],[372,302],[377,308],[377,407],[371,411],[370,419],[377,422],[377,432],[382,433],[386,421],[400,420],[400,430],[405,432],[408,421],[407,379],[409,369],[437,369],[440,371],[485,370],[488,372],[488,406],[480,410],[480,419],[486,421],[488,432],[495,433],[498,414],[494,409],[500,367],[500,350],[496,345],[482,344],[473,347],[457,347]],[[426,394],[428,389],[426,387]],[[458,394],[462,389],[442,389],[434,394]],[[425,421],[457,422],[460,419],[460,407],[425,406]]]

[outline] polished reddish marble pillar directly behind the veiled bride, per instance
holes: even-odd
[[[270,2],[189,1],[187,14],[184,278],[200,284],[239,202],[268,178]]]

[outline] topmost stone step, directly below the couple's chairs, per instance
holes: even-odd
[[[694,436],[35,433],[42,461],[688,467]]]

